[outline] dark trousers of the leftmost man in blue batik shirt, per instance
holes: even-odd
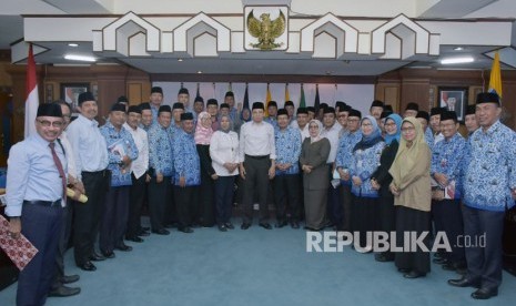
[[[99,238],[102,252],[112,252],[123,243],[123,234],[128,226],[129,188],[130,186],[111,187],[105,196]]]

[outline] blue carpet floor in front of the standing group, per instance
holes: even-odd
[[[97,272],[77,268],[73,252],[68,252],[67,274],[81,276],[77,285],[82,293],[51,297],[47,305],[456,306],[516,300],[516,278],[507,273],[498,297],[475,302],[469,297],[473,288],[447,285],[446,279],[459,276],[437,265],[425,278],[405,279],[393,263],[376,263],[373,254],[350,247],[306,253],[305,232],[290,227],[173,231],[131,245],[133,252],[115,252],[117,258],[95,263]],[[14,305],[16,287],[0,292],[0,305]]]

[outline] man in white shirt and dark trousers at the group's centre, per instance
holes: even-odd
[[[274,128],[263,121],[262,102],[253,103],[253,120],[240,130],[240,175],[244,184],[243,223],[247,230],[253,221],[253,195],[256,191],[260,204],[260,226],[271,230],[269,224],[267,190],[269,181],[274,178],[276,147]]]

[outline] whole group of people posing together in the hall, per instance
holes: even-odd
[[[195,96],[191,106],[186,89],[172,106],[163,99],[159,86],[149,103],[129,105],[121,96],[100,128],[90,92],[79,95],[71,123],[67,103],[39,106],[38,133],[9,155],[10,232],[39,249],[20,274],[19,305],[80,293],[67,286],[79,279],[64,274],[69,241],[77,266],[95,271],[93,262],[132,251],[124,241],[142,243],[170,228],[233,230],[235,203],[241,230],[252,226],[256,208],[257,224],[272,230],[272,204],[275,227],[304,222],[306,231],[356,232],[354,247],[365,253],[374,252],[370,232],[395,233],[402,244],[407,232],[445,233],[453,247],[433,261],[462,274],[448,283],[477,288],[473,298],[497,295],[503,218],[516,198],[516,133],[499,122],[496,94],[480,93],[468,105],[466,136],[454,111],[428,113],[417,103],[396,114],[375,100],[363,115],[342,101],[243,108],[231,91],[220,105]],[[141,223],[144,205],[150,227]],[[483,235],[482,247],[456,243]],[[432,258],[418,248],[377,252],[375,259],[417,278],[429,273]]]

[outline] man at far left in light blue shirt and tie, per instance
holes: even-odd
[[[67,159],[57,139],[63,119],[58,104],[40,104],[36,131],[9,152],[7,207],[12,238],[23,234],[38,248],[20,272],[17,305],[44,305],[55,273],[67,187]]]

